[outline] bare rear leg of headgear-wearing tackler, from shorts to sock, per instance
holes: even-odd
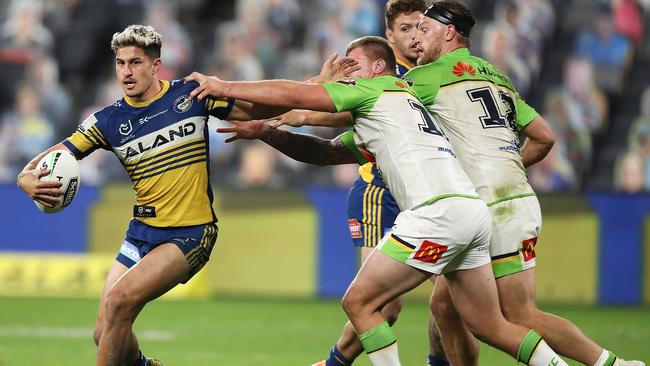
[[[537,309],[535,268],[497,279],[501,310],[509,321],[535,329],[557,353],[593,365],[603,351],[570,321]]]

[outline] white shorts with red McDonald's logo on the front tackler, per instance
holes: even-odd
[[[479,199],[450,197],[402,211],[379,250],[433,274],[490,263],[490,212]]]

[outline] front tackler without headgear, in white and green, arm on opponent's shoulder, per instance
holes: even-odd
[[[228,96],[325,112],[350,111],[357,146],[376,160],[402,211],[361,267],[343,307],[373,365],[399,365],[397,341],[381,310],[444,275],[463,320],[479,338],[528,365],[566,363],[533,330],[505,320],[490,265],[491,219],[442,131],[416,94],[396,78],[386,40],[348,47],[357,78],[323,85],[287,80],[226,82],[193,73],[190,97]]]

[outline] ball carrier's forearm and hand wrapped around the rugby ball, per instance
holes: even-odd
[[[54,207],[54,205],[61,200],[63,190],[61,182],[58,181],[41,181],[40,178],[50,173],[49,169],[40,169],[36,165],[45,154],[53,150],[68,150],[63,144],[56,144],[49,149],[38,154],[32,159],[23,170],[18,174],[16,184],[25,194],[47,207]]]

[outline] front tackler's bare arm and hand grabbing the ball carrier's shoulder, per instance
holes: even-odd
[[[185,81],[196,81],[190,98],[202,100],[207,96],[231,97],[255,104],[336,112],[336,106],[325,88],[319,84],[289,80],[223,81],[193,72]]]

